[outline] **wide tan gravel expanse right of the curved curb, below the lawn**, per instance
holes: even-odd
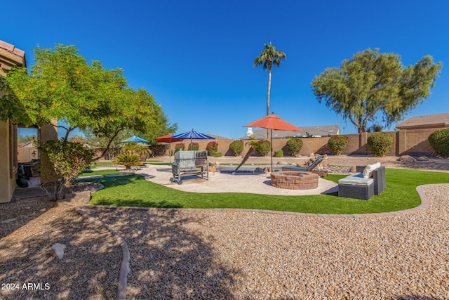
[[[129,299],[449,299],[449,185],[370,219],[88,209],[132,257]]]

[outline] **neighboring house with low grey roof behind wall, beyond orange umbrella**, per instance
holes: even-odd
[[[274,130],[273,138],[305,138],[305,137],[322,137],[322,136],[335,136],[340,134],[340,125],[322,125],[322,126],[300,126],[302,131],[285,131]],[[249,134],[253,132],[252,134]],[[239,140],[249,140],[253,136],[256,140],[267,138],[267,129],[248,130],[246,136],[242,136]]]

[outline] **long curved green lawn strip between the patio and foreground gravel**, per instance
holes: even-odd
[[[277,196],[244,193],[187,193],[167,188],[142,176],[99,178],[105,189],[93,193],[91,204],[128,207],[241,208],[298,211],[313,214],[364,214],[398,211],[420,205],[417,185],[449,183],[449,173],[387,169],[387,188],[370,200],[337,197],[337,193],[313,196]],[[232,175],[229,175],[232,176]],[[244,176],[244,175],[239,175]],[[328,175],[337,182],[344,175]]]

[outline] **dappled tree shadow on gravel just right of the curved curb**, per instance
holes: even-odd
[[[234,277],[213,252],[215,238],[196,233],[200,216],[164,211],[86,209],[119,231],[131,254],[127,297],[234,299]]]

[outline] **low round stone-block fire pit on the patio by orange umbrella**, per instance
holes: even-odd
[[[272,173],[272,186],[288,190],[312,190],[318,188],[318,174],[305,171]]]

